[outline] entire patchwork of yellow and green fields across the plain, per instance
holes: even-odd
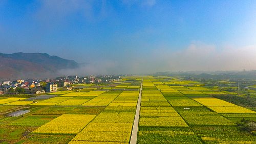
[[[125,76],[102,87],[49,93],[57,96],[37,103],[3,97],[0,142],[130,143],[140,102],[137,143],[256,143],[255,135],[237,125],[244,118],[256,120],[255,106],[219,99],[230,97],[230,92],[209,83]],[[17,110],[30,112],[6,116]]]

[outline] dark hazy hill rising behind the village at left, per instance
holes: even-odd
[[[41,53],[0,53],[0,80],[57,76],[60,69],[75,69],[73,60]]]

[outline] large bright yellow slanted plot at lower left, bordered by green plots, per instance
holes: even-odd
[[[89,124],[95,116],[96,115],[89,114],[63,114],[37,128],[32,133],[77,134]]]

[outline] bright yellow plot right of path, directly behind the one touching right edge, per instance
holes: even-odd
[[[204,106],[237,106],[216,98],[197,98],[193,99]]]

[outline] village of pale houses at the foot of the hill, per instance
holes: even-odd
[[[73,90],[73,88],[83,88],[81,86],[74,86],[74,84],[100,84],[103,82],[109,83],[113,80],[119,80],[119,76],[68,76],[45,80],[5,80],[0,82],[0,94],[43,94],[56,92],[58,89]]]

